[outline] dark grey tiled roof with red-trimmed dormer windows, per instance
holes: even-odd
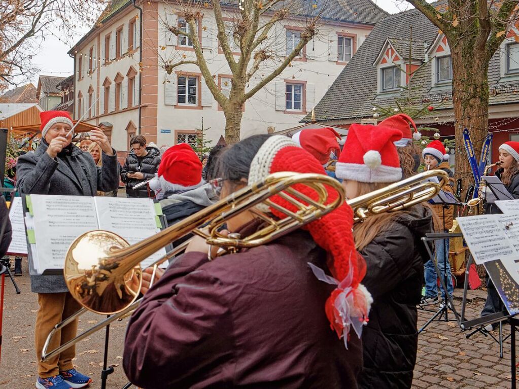
[[[434,3],[436,5],[438,3]],[[368,35],[362,46],[350,62],[344,67],[330,89],[315,107],[318,121],[327,120],[359,120],[373,116],[374,105],[394,106],[397,98],[407,95],[407,91],[395,94],[378,94],[377,68],[373,66],[386,39],[392,44],[408,52],[409,26],[413,27],[413,53],[424,56],[425,46],[429,47],[438,35],[438,27],[434,26],[420,11],[407,10],[388,16]],[[395,47],[397,51],[400,49]],[[401,53],[404,55],[404,53]],[[408,55],[407,55],[408,56]],[[422,65],[411,79],[411,98],[419,104],[444,102],[440,109],[452,108],[452,93],[450,85],[432,87],[431,63]],[[500,50],[490,60],[488,71],[490,87],[490,105],[512,103],[519,101],[519,81],[504,81],[500,79]],[[497,91],[498,93],[493,91]],[[445,100],[447,98],[447,100]],[[302,121],[309,122],[310,114]]]

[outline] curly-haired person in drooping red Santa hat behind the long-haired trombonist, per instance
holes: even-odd
[[[409,124],[411,124],[413,130],[411,130]],[[421,135],[414,120],[406,114],[398,114],[384,119],[379,123],[379,126],[402,131],[402,139],[394,142],[394,145],[397,146],[400,167],[402,168],[402,179],[415,175],[420,167],[421,151],[413,141],[419,141]]]

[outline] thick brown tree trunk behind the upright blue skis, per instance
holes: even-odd
[[[488,131],[488,64],[517,21],[518,0],[448,0],[434,7],[407,0],[447,38],[452,56],[456,178],[468,188],[471,170],[462,132],[467,128],[479,158]]]

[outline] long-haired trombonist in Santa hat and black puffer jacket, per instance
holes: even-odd
[[[351,124],[336,166],[346,197],[364,195],[402,177],[397,129]],[[424,205],[370,216],[353,228],[355,247],[366,261],[363,284],[373,296],[362,333],[364,368],[360,388],[409,388],[413,382],[424,262],[421,238],[432,232],[432,213]]]

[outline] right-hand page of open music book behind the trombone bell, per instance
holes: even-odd
[[[152,199],[96,197],[94,201],[99,228],[116,233],[129,244],[138,243],[160,232],[155,220],[156,212]],[[145,269],[165,254],[166,249],[161,248],[142,261],[141,267]],[[167,267],[168,263],[162,266]]]

